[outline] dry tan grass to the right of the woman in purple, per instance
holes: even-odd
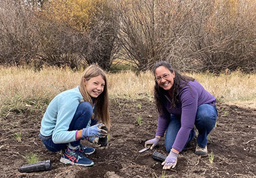
[[[256,74],[189,74],[213,94],[217,101],[256,108]]]

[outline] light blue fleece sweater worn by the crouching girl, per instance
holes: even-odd
[[[55,144],[76,141],[76,130],[67,131],[81,99],[79,86],[61,92],[48,105],[41,122],[40,134]],[[88,123],[90,125],[90,121]]]

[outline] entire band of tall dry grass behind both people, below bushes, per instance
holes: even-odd
[[[32,102],[50,101],[59,92],[79,85],[82,71],[68,68],[0,67],[0,113],[9,104],[29,106]],[[198,80],[218,101],[256,107],[256,74],[187,74]],[[147,98],[153,100],[154,76],[151,72],[136,75],[126,71],[107,74],[110,98]],[[40,104],[40,103],[39,103]],[[47,103],[46,103],[47,104]]]

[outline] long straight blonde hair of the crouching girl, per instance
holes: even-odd
[[[85,80],[90,80],[93,77],[101,76],[102,79],[105,81],[105,86],[103,92],[94,100],[95,103],[95,111],[96,111],[96,118],[99,122],[104,123],[108,130],[110,129],[110,116],[109,116],[109,95],[107,92],[107,77],[105,72],[96,65],[90,65],[83,71],[80,81],[80,92],[83,96],[84,101],[87,101],[91,104],[92,98],[88,94],[85,88]]]

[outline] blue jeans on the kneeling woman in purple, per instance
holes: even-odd
[[[197,136],[197,144],[199,147],[205,147],[208,142],[207,135],[213,130],[216,118],[217,118],[217,109],[216,106],[211,106],[210,104],[202,104],[198,106],[197,113],[195,116],[195,127],[198,130]],[[176,135],[180,130],[181,122],[180,122],[180,115],[173,115],[171,114],[170,123],[166,130],[165,134],[165,148],[166,151],[170,152],[173,143],[176,139]],[[190,142],[195,136],[194,128],[190,131],[189,139],[187,143]],[[186,145],[187,145],[186,143]],[[183,149],[186,147],[183,147]]]

